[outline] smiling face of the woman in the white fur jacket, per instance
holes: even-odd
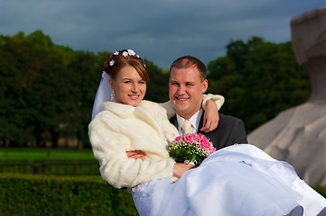
[[[146,92],[146,83],[135,70],[135,67],[126,66],[116,74],[116,78],[109,80],[111,88],[115,90],[116,103],[137,106]]]

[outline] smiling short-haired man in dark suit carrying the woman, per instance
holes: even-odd
[[[182,131],[184,121],[191,121],[191,132],[206,135],[217,149],[233,144],[247,143],[243,121],[219,113],[219,125],[211,132],[200,131],[203,124],[201,103],[208,88],[207,68],[198,58],[184,56],[176,59],[170,67],[169,97],[176,111],[170,119]]]

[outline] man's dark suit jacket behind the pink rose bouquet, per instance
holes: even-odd
[[[199,130],[202,128],[204,112],[200,118]],[[178,127],[176,115],[170,119],[170,122]],[[233,144],[247,143],[247,132],[245,124],[242,120],[232,116],[223,115],[219,113],[219,125],[215,130],[205,133],[204,131],[197,131],[204,134],[213,143],[213,146],[219,150]]]

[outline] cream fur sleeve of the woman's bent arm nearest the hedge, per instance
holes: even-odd
[[[99,114],[88,126],[94,156],[99,160],[99,171],[108,184],[116,188],[133,187],[154,179],[171,178],[174,160],[131,159],[126,157],[130,140],[121,133],[108,130]]]

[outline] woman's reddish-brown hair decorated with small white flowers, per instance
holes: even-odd
[[[144,60],[138,55],[135,55],[135,52],[131,49],[122,49],[112,54],[104,63],[104,71],[112,79],[115,79],[117,72],[126,66],[134,67],[144,82],[146,84],[148,83],[149,76],[144,65]]]

